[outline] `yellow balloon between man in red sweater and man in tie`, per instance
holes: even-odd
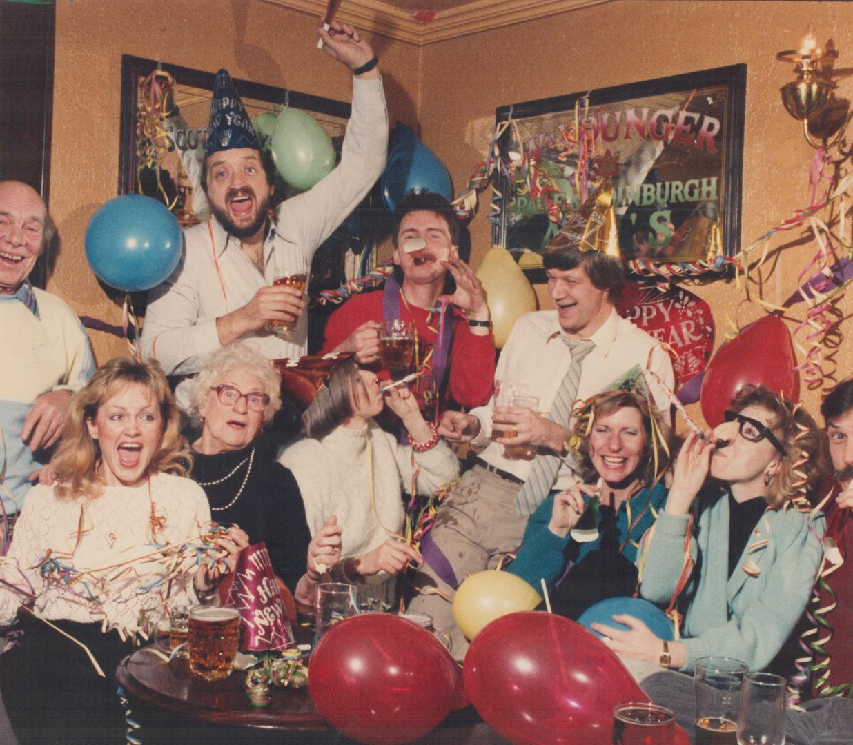
[[[513,255],[499,245],[492,246],[476,274],[489,303],[495,347],[503,349],[515,321],[537,309],[536,292]]]

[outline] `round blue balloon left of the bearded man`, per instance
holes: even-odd
[[[86,258],[92,271],[125,292],[159,285],[177,267],[182,245],[175,216],[141,194],[110,199],[86,228]]]

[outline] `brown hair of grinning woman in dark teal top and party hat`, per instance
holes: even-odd
[[[601,419],[608,414],[618,411],[620,408],[635,408],[640,412],[642,418],[642,428],[646,433],[646,443],[643,445],[640,465],[637,466],[636,475],[644,484],[650,484],[658,473],[664,471],[665,466],[669,463],[669,456],[663,447],[664,444],[671,450],[670,431],[666,424],[663,424],[659,415],[649,407],[648,401],[643,396],[640,396],[633,391],[617,390],[612,393],[606,393],[598,396],[595,403],[590,407],[590,413],[593,416],[593,423],[589,424],[589,416],[577,417],[575,424],[575,435],[579,442],[577,444],[577,455],[580,459],[578,471],[584,481],[595,481],[598,478],[598,472],[595,471],[595,466],[592,464],[592,459],[589,457],[589,435],[587,429],[591,432],[591,427],[595,427],[595,419]],[[657,473],[655,472],[654,459],[654,437],[652,419],[659,431],[659,437],[663,438],[664,442],[659,442],[658,448],[658,463]]]

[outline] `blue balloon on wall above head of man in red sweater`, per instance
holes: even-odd
[[[388,165],[380,186],[382,201],[392,212],[409,192],[432,192],[453,199],[450,174],[444,164],[405,124],[397,124],[391,131]]]

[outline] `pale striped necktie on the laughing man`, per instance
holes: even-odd
[[[593,347],[595,347],[595,342],[591,342],[589,339],[578,339],[576,342],[573,342],[562,334],[560,334],[560,339],[572,352],[572,364],[569,365],[566,377],[563,378],[560,389],[557,390],[557,395],[554,396],[554,403],[551,404],[548,419],[567,428],[569,419],[572,418],[572,405],[577,396],[577,384],[581,380],[583,358],[589,355]],[[551,491],[551,486],[557,477],[557,471],[560,471],[560,464],[562,462],[560,456],[554,453],[539,454],[533,459],[531,475],[527,477],[525,485],[521,487],[516,497],[516,506],[519,509],[519,515],[529,517],[543,503]]]

